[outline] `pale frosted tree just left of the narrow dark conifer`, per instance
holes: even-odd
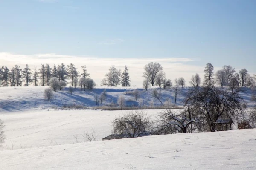
[[[120,84],[121,70],[117,70],[115,66],[111,66],[109,72],[101,82],[101,86],[117,86]]]

